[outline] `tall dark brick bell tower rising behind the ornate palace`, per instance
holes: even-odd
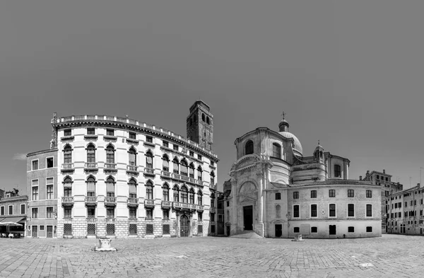
[[[187,139],[190,139],[208,151],[213,146],[213,115],[209,105],[203,100],[196,100],[190,107],[187,117]]]

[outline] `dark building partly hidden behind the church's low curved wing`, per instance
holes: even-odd
[[[386,197],[392,193],[402,191],[404,189],[404,185],[401,185],[399,182],[392,182],[391,175],[387,174],[384,169],[383,172],[373,170],[371,173],[370,170],[367,170],[365,177],[363,178],[362,175],[360,175],[359,180],[367,180],[373,185],[380,185],[382,191],[382,233],[386,233],[387,213],[385,212],[386,204],[384,204],[384,201]]]

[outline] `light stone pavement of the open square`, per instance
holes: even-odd
[[[424,237],[0,238],[0,277],[424,277]]]

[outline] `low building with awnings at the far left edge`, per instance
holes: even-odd
[[[19,233],[25,236],[26,208],[28,197],[19,196],[16,191],[7,191],[0,199],[0,223],[14,222],[20,226],[0,226],[0,234]]]

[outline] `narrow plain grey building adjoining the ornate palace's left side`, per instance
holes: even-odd
[[[62,187],[57,153],[53,148],[27,154],[28,237],[57,237],[57,196]]]

